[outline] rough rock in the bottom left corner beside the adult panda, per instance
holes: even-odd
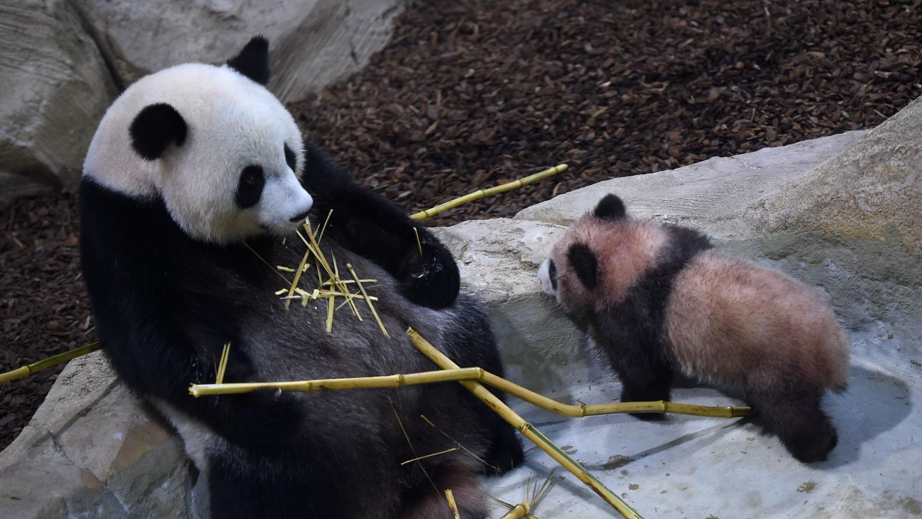
[[[67,365],[0,454],[0,517],[178,517],[188,486],[182,442],[100,352]]]

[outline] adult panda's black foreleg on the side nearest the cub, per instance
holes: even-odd
[[[403,210],[354,183],[316,148],[304,146],[307,162],[301,184],[313,196],[312,212],[325,219],[333,209],[326,232],[383,266],[401,282],[408,300],[434,309],[450,306],[461,277],[448,249]]]

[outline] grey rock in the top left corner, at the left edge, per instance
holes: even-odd
[[[73,189],[116,88],[71,2],[0,4],[0,203]]]

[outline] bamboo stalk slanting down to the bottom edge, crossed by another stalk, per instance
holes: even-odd
[[[413,346],[419,349],[423,355],[435,362],[437,366],[443,370],[458,369],[458,365],[455,364],[455,362],[446,357],[438,348],[432,346],[429,341],[422,338],[415,330],[408,328],[407,335]],[[598,494],[598,497],[614,507],[618,513],[621,513],[621,515],[628,519],[640,519],[641,515],[635,512],[628,503],[621,500],[617,494],[609,490],[601,481],[581,466],[579,462],[570,457],[569,454],[561,451],[560,447],[554,444],[554,442],[551,442],[548,437],[538,431],[535,426],[526,422],[525,419],[515,413],[509,406],[503,404],[502,400],[496,395],[493,395],[490,390],[480,383],[473,381],[459,381],[459,383],[465,386],[467,391],[476,395],[484,404],[500,415],[502,419],[506,420],[517,431],[521,432],[528,440],[538,445],[538,448],[550,455],[550,457],[561,464],[563,468],[566,468],[573,476],[583,481],[590,489]]]

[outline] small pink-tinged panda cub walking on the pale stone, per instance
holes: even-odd
[[[566,231],[538,278],[588,325],[622,401],[668,400],[680,371],[744,390],[801,462],[835,446],[820,401],[845,389],[849,343],[814,289],[716,251],[695,230],[628,218],[615,195]]]

